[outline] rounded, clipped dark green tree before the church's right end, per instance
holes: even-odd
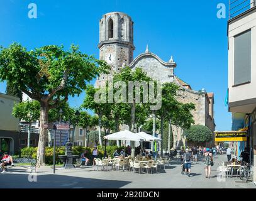
[[[195,144],[203,144],[211,141],[213,138],[213,132],[203,125],[193,125],[190,129],[184,131],[187,141],[191,141]]]

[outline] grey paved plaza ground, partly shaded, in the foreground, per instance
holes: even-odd
[[[217,155],[211,178],[204,177],[203,159],[192,164],[191,177],[181,175],[181,162],[173,160],[169,166],[159,169],[159,173],[147,174],[129,171],[95,171],[92,166],[71,170],[56,170],[52,173],[50,166],[42,166],[36,175],[36,182],[29,170],[14,166],[8,173],[0,174],[4,180],[1,188],[256,188],[254,183],[243,183],[240,178],[227,178],[218,182],[218,161],[225,161],[226,155]],[[29,181],[30,180],[30,181]],[[35,180],[35,177],[34,177]]]

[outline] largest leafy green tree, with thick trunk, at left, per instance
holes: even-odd
[[[56,45],[27,51],[17,43],[0,48],[0,80],[7,80],[40,102],[37,165],[45,165],[47,131],[43,124],[48,123],[49,110],[66,102],[69,95],[81,94],[87,82],[108,69],[105,62],[80,52],[74,45],[68,51]]]

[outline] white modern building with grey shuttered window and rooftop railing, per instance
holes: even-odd
[[[246,146],[256,172],[256,1],[230,1],[229,16],[228,109],[233,127],[248,127]]]

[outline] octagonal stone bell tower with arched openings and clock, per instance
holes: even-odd
[[[100,75],[96,85],[111,79],[113,72],[133,61],[133,21],[125,13],[106,13],[99,21],[99,59],[111,67],[108,75]]]

